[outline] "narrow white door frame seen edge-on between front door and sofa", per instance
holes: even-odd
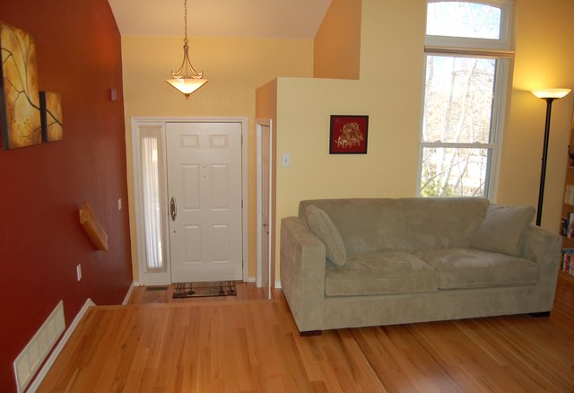
[[[266,126],[270,128],[269,132],[269,146],[265,146],[269,149],[269,203],[270,209],[273,209],[273,170],[272,170],[272,163],[273,163],[273,129],[272,129],[272,119],[271,118],[257,118],[257,275],[256,275],[256,286],[257,288],[261,288],[263,284],[263,277],[261,276],[261,272],[263,271],[263,255],[262,255],[262,248],[263,248],[263,204],[261,203],[261,198],[259,197],[263,193],[263,172],[262,172],[262,165],[263,165],[263,149],[264,146],[262,145],[262,137],[261,137],[261,128]],[[271,221],[272,214],[269,214],[269,221]],[[274,228],[270,223],[267,223],[269,226],[269,240],[273,239],[274,236]],[[269,256],[268,260],[271,261],[271,243],[269,245]],[[271,272],[272,269],[269,269]],[[269,277],[269,283],[272,287],[274,287],[275,277]]]

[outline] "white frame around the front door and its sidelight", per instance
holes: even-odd
[[[170,263],[166,273],[153,275],[152,281],[146,282],[145,244],[143,236],[141,181],[139,169],[139,138],[137,129],[142,125],[161,126],[163,140],[165,141],[165,123],[240,123],[241,124],[241,244],[243,258],[243,281],[248,280],[248,119],[247,118],[204,118],[204,117],[135,117],[132,118],[132,165],[134,176],[134,203],[135,203],[135,241],[136,258],[138,266],[138,281],[140,284],[171,284]],[[165,144],[164,144],[165,149]],[[163,169],[167,170],[166,168]],[[167,176],[167,173],[166,173]],[[167,192],[167,189],[165,190]],[[166,220],[168,217],[166,216]],[[167,239],[166,239],[167,241]],[[168,247],[168,260],[170,260],[170,248]]]

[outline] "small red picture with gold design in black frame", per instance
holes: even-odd
[[[369,116],[331,115],[330,154],[366,154]]]

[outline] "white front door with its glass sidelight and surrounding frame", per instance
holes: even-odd
[[[133,118],[132,148],[140,284],[247,279],[247,119]]]

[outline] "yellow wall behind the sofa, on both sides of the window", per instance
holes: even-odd
[[[334,0],[334,2],[337,0]],[[536,205],[545,103],[529,90],[574,87],[571,0],[517,0],[516,61],[494,202]],[[277,81],[277,225],[301,199],[414,196],[421,132],[426,1],[362,0],[359,81]],[[561,214],[572,98],[555,101],[543,226]],[[329,155],[329,115],[369,115],[367,155]],[[291,167],[279,157],[291,153]],[[277,259],[278,260],[278,259]],[[279,276],[277,276],[279,278]]]

